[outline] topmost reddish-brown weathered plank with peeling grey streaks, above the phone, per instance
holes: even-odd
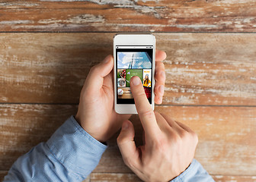
[[[255,32],[256,2],[30,0],[1,2],[0,31]]]

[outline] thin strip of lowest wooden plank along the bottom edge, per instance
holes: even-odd
[[[212,175],[216,182],[254,182],[256,176],[222,176],[222,175]],[[91,182],[98,181],[142,181],[136,174],[117,174],[117,173],[92,173]]]

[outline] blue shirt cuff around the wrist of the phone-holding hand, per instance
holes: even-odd
[[[91,137],[73,116],[53,133],[46,146],[64,167],[80,174],[90,174],[107,149],[107,146]]]

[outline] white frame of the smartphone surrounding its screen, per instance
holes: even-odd
[[[155,36],[152,34],[117,34],[114,36],[114,108],[119,114],[137,114],[134,104],[117,104],[116,45],[153,45],[152,51],[152,109],[155,108]]]

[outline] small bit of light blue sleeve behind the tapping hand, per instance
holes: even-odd
[[[193,159],[190,166],[170,182],[214,182],[213,177],[207,173],[203,166]]]

